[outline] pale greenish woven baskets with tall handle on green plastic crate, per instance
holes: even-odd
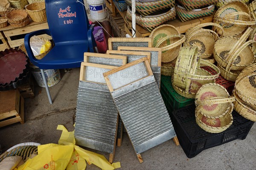
[[[217,74],[212,75],[207,70],[201,69],[201,64],[212,67]],[[204,84],[214,83],[219,74],[218,67],[200,59],[197,46],[184,46],[177,57],[172,85],[180,95],[186,98],[195,98],[198,89]]]

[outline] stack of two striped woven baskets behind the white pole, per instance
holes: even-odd
[[[131,21],[131,0],[128,4],[126,17]],[[169,20],[174,20],[176,11],[175,0],[136,0],[136,22],[148,32]]]

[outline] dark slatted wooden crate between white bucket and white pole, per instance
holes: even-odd
[[[114,17],[113,13],[110,10],[108,10],[107,12],[108,20],[111,23],[115,37],[125,37],[125,21],[123,17],[119,13],[117,13]]]

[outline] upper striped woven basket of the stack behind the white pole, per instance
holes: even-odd
[[[131,6],[131,0],[125,0]],[[175,6],[175,0],[136,0],[136,11],[143,17]]]

